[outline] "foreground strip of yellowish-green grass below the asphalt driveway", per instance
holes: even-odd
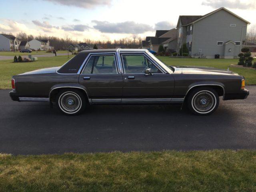
[[[256,151],[0,154],[1,192],[255,192]]]

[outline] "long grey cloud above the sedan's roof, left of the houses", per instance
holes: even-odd
[[[152,26],[148,24],[135,23],[134,21],[110,23],[107,21],[93,20],[92,22],[96,23],[96,25],[93,26],[95,29],[104,33],[140,34],[154,30]]]

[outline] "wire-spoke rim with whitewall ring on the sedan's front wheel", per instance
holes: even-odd
[[[208,112],[215,106],[214,95],[208,91],[198,92],[193,100],[193,106],[198,112]]]

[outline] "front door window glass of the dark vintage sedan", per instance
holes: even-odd
[[[152,73],[162,73],[148,58],[144,55],[122,55],[124,71],[126,74],[145,73],[150,68]]]

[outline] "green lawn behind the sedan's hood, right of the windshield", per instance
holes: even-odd
[[[219,69],[230,69],[246,79],[246,85],[256,85],[256,70],[246,68],[230,67],[230,64],[237,64],[238,59],[198,59],[198,58],[169,58],[158,56],[158,58],[171,66],[207,66]]]

